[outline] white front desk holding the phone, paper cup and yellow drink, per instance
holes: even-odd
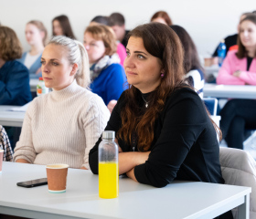
[[[48,186],[22,188],[17,182],[46,177],[45,166],[4,162],[0,174],[0,214],[32,218],[213,218],[239,206],[249,218],[251,188],[214,183],[176,182],[165,188],[120,179],[116,199],[98,196],[98,175],[69,169],[67,193]]]

